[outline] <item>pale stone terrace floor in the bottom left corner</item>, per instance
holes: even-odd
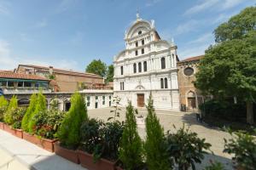
[[[86,170],[3,130],[0,130],[0,169]]]

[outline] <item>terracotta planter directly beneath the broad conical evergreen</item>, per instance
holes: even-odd
[[[79,156],[76,150],[67,150],[66,148],[61,147],[59,142],[55,142],[55,154],[66,158],[68,161],[73,161],[74,163],[79,164]]]

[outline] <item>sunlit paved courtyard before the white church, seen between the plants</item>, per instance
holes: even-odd
[[[90,118],[98,118],[104,121],[108,120],[108,117],[113,116],[113,113],[110,111],[113,110],[111,108],[105,109],[97,109],[97,110],[89,110],[88,115]],[[212,144],[211,150],[213,151],[213,155],[209,154],[206,156],[203,164],[208,164],[209,159],[217,160],[223,162],[227,169],[232,169],[230,155],[224,154],[224,138],[229,139],[230,134],[225,133],[223,131],[218,130],[217,128],[208,127],[207,125],[201,124],[196,121],[195,113],[186,113],[179,111],[156,111],[157,116],[160,119],[161,125],[165,128],[165,131],[170,130],[174,132],[175,127],[180,128],[183,127],[183,123],[186,127],[195,133],[198,133],[200,138],[205,138],[206,141]],[[146,116],[147,111],[145,109],[138,110],[138,114],[142,116]],[[125,109],[122,108],[120,111],[120,116],[118,118],[119,121],[125,121]],[[145,131],[144,128],[138,128],[138,132],[141,137],[144,138]],[[201,169],[200,165],[197,166],[197,169]]]

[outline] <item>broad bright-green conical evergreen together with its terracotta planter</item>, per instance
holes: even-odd
[[[55,154],[79,163],[76,149],[80,143],[80,127],[87,120],[84,98],[79,93],[75,93],[71,98],[71,108],[64,116],[61,127],[56,133],[60,142],[55,142]]]

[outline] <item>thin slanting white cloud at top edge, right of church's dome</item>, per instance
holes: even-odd
[[[219,0],[204,0],[202,3],[197,4],[191,8],[189,8],[184,15],[189,15],[189,14],[195,14],[199,13],[201,11],[206,10],[207,8],[211,8],[213,5],[218,3]]]

